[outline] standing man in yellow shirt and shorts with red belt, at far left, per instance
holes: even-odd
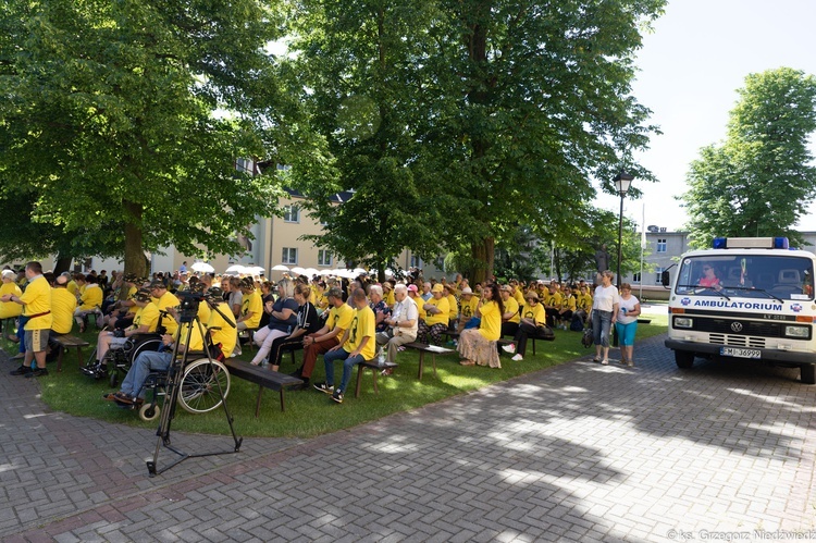
[[[28,320],[25,323],[25,358],[23,363],[12,375],[41,377],[48,375],[46,369],[46,348],[48,347],[48,334],[51,330],[53,317],[51,316],[51,285],[42,276],[42,266],[39,262],[25,264],[25,279],[27,280],[22,296],[5,294],[0,301],[14,301],[23,306],[23,316]],[[32,361],[37,361],[37,368],[32,370]]]

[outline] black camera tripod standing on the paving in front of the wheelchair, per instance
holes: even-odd
[[[207,301],[207,304],[210,306],[210,308],[214,311],[218,311],[218,313],[224,318],[224,320],[230,324],[232,328],[235,328],[235,323],[226,317],[223,312],[219,310],[218,307],[215,307],[213,304],[210,304]],[[226,397],[224,396],[224,391],[221,387],[221,381],[219,379],[213,379],[215,383],[215,387],[218,388],[218,393],[221,397],[221,405],[224,408],[224,415],[226,416],[226,422],[230,424],[230,431],[232,432],[233,441],[234,441],[234,447],[231,451],[215,451],[215,452],[209,452],[209,453],[197,453],[197,454],[187,454],[182,451],[178,451],[177,448],[173,447],[170,442],[170,427],[173,421],[173,418],[175,417],[175,409],[177,406],[178,400],[178,394],[182,390],[182,381],[184,378],[184,368],[187,363],[187,359],[189,357],[189,349],[185,348],[184,353],[182,353],[181,358],[178,354],[178,346],[182,343],[182,338],[186,337],[187,342],[190,341],[190,337],[193,336],[193,326],[198,326],[198,331],[201,334],[201,337],[205,340],[205,354],[207,356],[207,359],[209,360],[209,368],[211,372],[220,371],[220,365],[217,366],[212,361],[212,356],[210,355],[210,350],[208,348],[207,338],[208,336],[205,334],[205,329],[201,325],[200,320],[197,316],[198,310],[198,304],[195,305],[195,309],[191,308],[185,308],[185,305],[183,304],[183,310],[182,310],[182,318],[181,318],[181,324],[178,330],[178,340],[175,342],[173,346],[173,358],[171,359],[170,367],[168,368],[168,375],[166,375],[166,383],[165,383],[165,394],[164,394],[164,404],[161,410],[161,419],[159,422],[159,428],[156,431],[156,435],[158,436],[156,442],[156,451],[153,452],[153,458],[152,460],[147,460],[147,470],[149,473],[149,477],[154,477],[158,473],[163,473],[164,471],[169,470],[170,468],[181,464],[182,461],[186,460],[187,458],[198,458],[202,456],[215,456],[215,455],[226,455],[226,454],[233,454],[240,452],[240,444],[244,441],[243,437],[238,437],[235,434],[235,428],[233,427],[233,418],[230,415],[230,410],[226,407]],[[183,331],[184,329],[184,331]],[[186,335],[184,334],[186,332]],[[203,357],[201,357],[203,358]],[[170,462],[169,465],[164,466],[161,469],[158,469],[158,462],[159,462],[159,452],[161,451],[162,445],[168,448],[169,451],[175,453],[180,456],[180,458],[176,458],[174,461]]]

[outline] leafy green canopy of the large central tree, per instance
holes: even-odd
[[[479,280],[492,272],[495,239],[519,223],[568,232],[574,213],[564,201],[591,200],[593,177],[610,188],[626,166],[651,180],[631,162],[654,127],[630,83],[640,32],[663,5],[298,2],[293,73],[304,74],[309,122],[336,159],[332,188],[379,203],[341,221],[355,225],[344,246],[360,229],[380,244],[358,244],[367,255],[465,245]],[[407,217],[384,220],[394,208]]]

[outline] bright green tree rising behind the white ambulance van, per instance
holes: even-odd
[[[808,138],[816,129],[816,78],[781,67],[745,78],[725,141],[701,150],[682,199],[693,244],[715,236],[782,236],[816,196]]]

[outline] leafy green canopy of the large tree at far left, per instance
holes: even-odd
[[[165,245],[237,251],[275,201],[234,165],[263,153],[251,111],[273,23],[257,0],[4,2],[0,211],[32,224],[29,254],[144,272]]]

